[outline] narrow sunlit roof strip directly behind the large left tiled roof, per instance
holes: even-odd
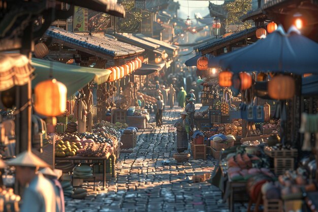
[[[132,45],[136,45],[138,47],[148,49],[148,50],[154,50],[154,49],[157,49],[160,47],[160,45],[147,42],[147,41],[142,40],[140,38],[137,38],[136,36],[133,36],[131,34],[116,33],[114,36],[122,42],[130,43]]]

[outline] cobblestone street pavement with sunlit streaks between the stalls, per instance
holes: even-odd
[[[174,121],[179,110],[164,112],[164,126],[138,132],[132,153],[121,153],[116,164],[117,177],[105,191],[90,192],[84,200],[66,199],[66,211],[218,211],[228,212],[219,203],[221,192],[209,183],[193,183],[196,171],[212,172],[217,160],[190,159],[177,164]],[[169,164],[164,164],[170,160]]]

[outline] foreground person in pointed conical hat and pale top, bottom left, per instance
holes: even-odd
[[[49,165],[42,159],[27,151],[17,155],[7,162],[16,167],[16,179],[25,190],[22,196],[23,203],[20,212],[56,212],[56,195],[51,181],[37,174],[39,168]]]

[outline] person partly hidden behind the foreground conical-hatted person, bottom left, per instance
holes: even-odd
[[[55,195],[56,195],[56,205],[60,212],[65,212],[65,201],[63,188],[58,179],[62,176],[62,170],[54,169],[52,170],[49,167],[40,169],[38,173],[42,173],[46,178],[50,179],[52,184],[55,186]]]

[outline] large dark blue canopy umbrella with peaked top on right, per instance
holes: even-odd
[[[318,73],[318,44],[302,36],[291,27],[285,33],[282,26],[254,44],[242,49],[210,58],[209,66],[241,71]]]

